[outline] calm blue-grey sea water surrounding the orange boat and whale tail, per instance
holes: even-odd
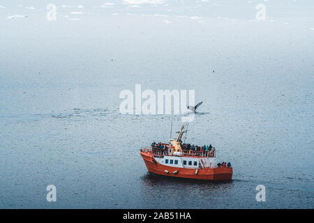
[[[257,22],[260,1],[147,2],[0,8],[0,208],[314,208],[313,3],[265,1]],[[187,140],[232,181],[148,174],[140,147],[171,116],[120,114],[135,84],[194,89]]]

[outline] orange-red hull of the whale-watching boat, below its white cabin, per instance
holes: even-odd
[[[142,151],[140,153],[146,164],[147,170],[154,174],[198,180],[231,180],[232,178],[232,167],[198,169],[198,173],[195,174],[196,169],[168,167],[166,165],[153,162],[153,155],[151,153],[144,153]]]

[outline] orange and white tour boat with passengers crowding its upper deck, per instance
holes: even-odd
[[[149,172],[179,178],[192,178],[198,180],[231,180],[232,167],[224,163],[216,163],[216,149],[210,150],[186,148],[181,138],[186,124],[174,140],[169,144],[158,144],[158,146],[146,146],[140,149],[140,154]],[[171,138],[171,137],[170,137]]]

